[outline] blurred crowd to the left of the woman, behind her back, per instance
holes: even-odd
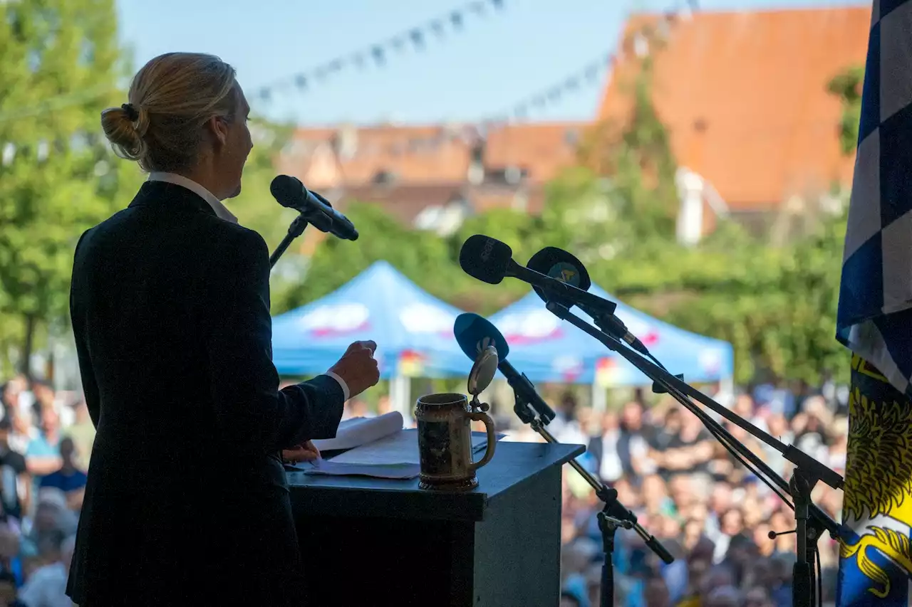
[[[71,607],[67,574],[95,428],[46,383],[0,386],[0,607]]]

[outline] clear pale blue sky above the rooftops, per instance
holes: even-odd
[[[464,0],[118,0],[121,37],[137,66],[174,50],[202,51],[237,67],[245,90],[389,38]],[[679,3],[683,5],[684,3]],[[701,0],[701,10],[864,5],[864,0]],[[294,87],[254,111],[300,124],[427,123],[496,116],[612,50],[626,15],[673,0],[503,0],[490,16],[467,15],[461,34],[429,39],[386,67],[347,68],[306,93]],[[489,11],[490,13],[490,11]],[[369,65],[369,63],[368,63]],[[595,115],[596,84],[529,115],[535,121]]]

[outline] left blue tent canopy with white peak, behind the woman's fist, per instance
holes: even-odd
[[[472,361],[453,337],[461,314],[388,262],[375,262],[337,291],[273,319],[279,374],[322,373],[354,341],[377,342],[380,376],[461,376]]]

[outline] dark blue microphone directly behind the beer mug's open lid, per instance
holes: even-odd
[[[488,346],[494,346],[498,356],[497,368],[507,378],[507,383],[513,388],[513,392],[534,408],[542,417],[543,424],[546,425],[554,419],[554,411],[541,396],[538,396],[535,386],[529,381],[529,378],[517,371],[507,361],[510,346],[507,345],[507,340],[491,321],[478,314],[460,314],[453,324],[453,334],[462,352],[472,360],[475,360]],[[523,419],[523,421],[528,423],[531,420]]]

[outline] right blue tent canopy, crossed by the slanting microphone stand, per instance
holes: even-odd
[[[596,285],[589,292],[617,301]],[[575,314],[591,323],[578,309]],[[731,344],[684,331],[625,304],[618,303],[615,314],[668,371],[683,373],[686,381],[716,381],[731,376],[734,368]],[[534,292],[494,314],[491,322],[510,345],[510,362],[532,381],[597,382],[605,386],[648,384],[648,378],[637,367],[548,312]]]

